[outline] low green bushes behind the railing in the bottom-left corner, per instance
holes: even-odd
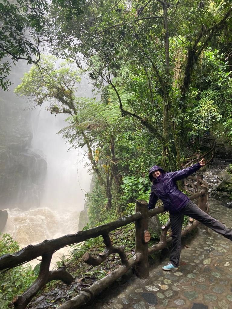
[[[0,233],[0,256],[19,251],[11,235]],[[0,308],[6,309],[15,295],[22,294],[36,279],[30,265],[18,266],[0,274]]]

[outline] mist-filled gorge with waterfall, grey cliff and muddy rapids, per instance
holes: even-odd
[[[21,247],[76,233],[91,181],[81,160],[85,150],[69,150],[57,134],[67,116],[51,115],[45,106],[25,110],[28,103],[13,93],[28,70],[24,61],[12,67],[14,84],[0,99],[0,209],[8,213],[2,232]],[[77,95],[92,96],[86,80],[79,89]]]

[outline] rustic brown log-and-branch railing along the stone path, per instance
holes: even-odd
[[[190,177],[189,177],[190,178]],[[202,180],[202,175],[197,175],[195,193],[189,198],[191,200],[198,199],[198,206],[208,213],[208,184]],[[192,177],[190,181],[193,181]],[[52,280],[61,280],[65,284],[71,284],[73,277],[69,274],[65,266],[59,267],[57,270],[49,270],[52,255],[57,250],[71,244],[80,243],[84,240],[102,235],[105,243],[104,252],[100,252],[97,257],[91,256],[86,252],[83,256],[84,262],[89,265],[100,265],[112,253],[118,253],[121,259],[121,266],[112,271],[106,277],[94,282],[92,286],[81,290],[77,296],[63,303],[60,309],[78,308],[89,302],[93,297],[99,294],[106,287],[111,285],[124,273],[132,267],[135,267],[135,274],[139,278],[147,278],[149,276],[148,256],[156,251],[165,248],[172,240],[171,233],[167,236],[170,227],[170,220],[161,228],[161,236],[159,243],[148,247],[150,234],[148,232],[148,219],[165,211],[164,207],[148,210],[148,203],[143,200],[136,200],[135,214],[128,217],[120,218],[117,221],[109,222],[101,226],[96,226],[85,231],[79,231],[76,234],[65,235],[57,239],[44,240],[36,245],[28,245],[22,250],[13,254],[5,254],[0,257],[0,270],[8,270],[13,267],[27,263],[39,256],[42,256],[40,271],[37,279],[22,294],[16,295],[12,300],[15,309],[25,309],[32,298],[37,294],[43,286]],[[135,222],[135,255],[130,259],[124,252],[125,246],[113,246],[109,233],[117,228]],[[182,231],[182,236],[186,235],[199,224],[198,221],[189,219],[188,225]]]

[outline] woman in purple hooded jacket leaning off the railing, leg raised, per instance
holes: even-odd
[[[164,204],[165,210],[168,210],[170,213],[173,243],[170,263],[163,266],[163,270],[178,269],[181,252],[181,230],[184,215],[198,220],[204,225],[210,227],[213,231],[232,240],[232,230],[228,229],[221,222],[210,217],[201,210],[194,202],[190,201],[184,193],[179,191],[175,184],[175,181],[190,176],[204,165],[205,161],[202,159],[199,163],[180,171],[165,173],[165,171],[157,165],[149,170],[149,178],[152,181],[152,187],[148,209],[153,209],[158,198],[160,198]]]

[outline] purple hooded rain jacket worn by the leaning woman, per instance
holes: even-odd
[[[175,181],[190,176],[199,170],[200,167],[200,163],[197,163],[180,171],[165,173],[161,167],[157,165],[153,166],[149,170],[149,178],[153,184],[148,209],[155,208],[156,202],[160,198],[165,210],[171,213],[179,212],[190,200],[184,193],[178,190]],[[152,173],[157,170],[161,171],[161,174],[157,178],[154,178]]]

